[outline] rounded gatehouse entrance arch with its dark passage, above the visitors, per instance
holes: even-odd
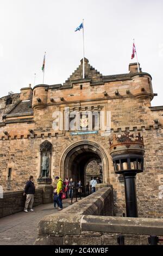
[[[104,148],[92,141],[79,141],[66,148],[61,157],[61,177],[81,180],[84,185],[92,176],[109,182],[108,156]]]

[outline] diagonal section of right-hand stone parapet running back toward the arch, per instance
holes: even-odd
[[[97,192],[91,194],[68,206],[57,214],[47,215],[39,222],[39,237],[36,245],[62,245],[67,243],[65,237],[70,235],[77,237],[81,235],[81,221],[84,216],[112,216],[113,215],[113,195],[112,186],[103,187]],[[88,243],[89,244],[89,243]]]

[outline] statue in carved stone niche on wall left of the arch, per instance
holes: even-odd
[[[40,145],[40,176],[38,182],[51,183],[51,154],[52,144],[48,141],[44,141]]]

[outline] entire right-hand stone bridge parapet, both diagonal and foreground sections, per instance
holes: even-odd
[[[163,220],[112,216],[112,187],[103,187],[39,222],[35,245],[147,245],[149,235],[163,235]]]

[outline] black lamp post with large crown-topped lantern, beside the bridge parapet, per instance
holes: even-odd
[[[110,140],[110,155],[116,174],[123,174],[127,217],[138,217],[135,178],[143,172],[143,155],[145,154],[143,137],[129,135],[113,135]]]

